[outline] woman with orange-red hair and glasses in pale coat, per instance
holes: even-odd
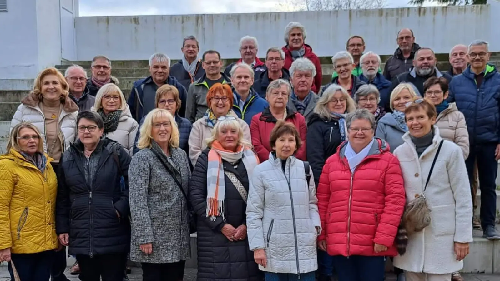
[[[191,134],[187,141],[192,166],[196,165],[199,155],[207,147],[205,140],[212,135],[213,127],[221,116],[233,116],[243,130],[243,139],[251,142],[250,128],[244,120],[238,118],[236,113],[231,110],[232,102],[233,95],[229,85],[216,83],[208,90],[206,94],[208,110],[203,117],[192,124]]]

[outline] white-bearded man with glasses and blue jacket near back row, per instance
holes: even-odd
[[[380,56],[369,51],[361,56],[359,63],[362,69],[359,80],[366,84],[373,84],[378,89],[380,94],[378,105],[383,107],[389,102],[391,83],[378,71],[380,69]]]

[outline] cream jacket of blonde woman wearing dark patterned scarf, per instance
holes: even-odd
[[[96,111],[93,107],[90,110]],[[121,146],[123,146],[123,148],[128,151],[128,154],[131,156],[133,144],[135,142],[135,135],[137,134],[138,129],[139,124],[137,124],[137,121],[132,118],[132,114],[130,114],[130,109],[127,105],[121,112],[116,130],[107,133],[104,136],[121,144]]]

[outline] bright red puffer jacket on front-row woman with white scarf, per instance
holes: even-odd
[[[399,161],[379,138],[351,173],[347,142],[330,156],[317,187],[319,216],[329,255],[396,256],[394,238],[406,198]],[[374,253],[374,243],[386,246]]]

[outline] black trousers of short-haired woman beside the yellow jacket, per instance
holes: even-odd
[[[96,255],[90,258],[86,255],[76,255],[80,266],[81,281],[123,281],[126,266],[126,253]]]

